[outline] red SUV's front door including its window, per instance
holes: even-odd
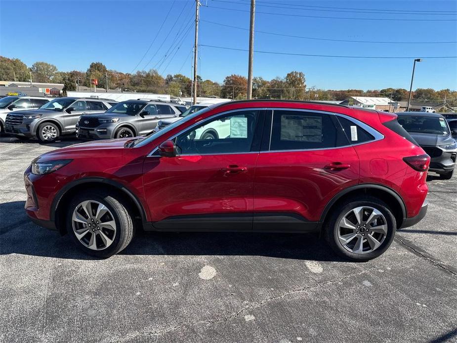
[[[158,229],[252,229],[258,110],[212,116],[176,137],[177,156],[146,158],[145,198]],[[155,155],[155,156],[154,156]]]

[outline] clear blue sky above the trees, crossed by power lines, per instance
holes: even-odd
[[[201,7],[200,12],[202,19],[200,43],[247,49],[248,31],[214,25],[208,21],[247,29],[249,28],[249,1],[201,0],[201,2],[205,6]],[[352,8],[363,10],[352,10]],[[387,10],[388,13],[373,13],[365,9]],[[160,66],[159,72],[163,75],[180,72],[190,76],[191,50],[194,42],[194,31],[191,28],[191,21],[195,15],[194,0],[174,2],[173,0],[0,0],[0,54],[20,58],[28,66],[36,61],[49,62],[62,71],[86,70],[90,62],[100,61],[109,69],[132,72],[156,36],[169,10],[168,19],[157,35],[155,43],[137,69]],[[457,1],[455,0],[257,0],[256,10],[255,29],[259,31],[356,41],[457,41],[457,21],[455,21]],[[393,10],[401,14],[393,14]],[[364,11],[370,13],[355,13]],[[435,15],[432,12],[406,14],[405,11],[444,12],[433,12],[437,13]],[[287,15],[278,15],[278,13]],[[178,17],[179,14],[181,14],[180,17]],[[359,19],[312,18],[296,15]],[[453,21],[389,21],[361,20],[361,18],[452,19]],[[185,34],[187,28],[189,30]],[[178,32],[182,34],[175,40]],[[166,37],[167,34],[168,37]],[[164,42],[163,45],[162,42]],[[172,48],[171,53],[168,53],[164,59],[170,45],[175,48]],[[457,56],[456,43],[329,42],[262,33],[255,35],[254,48],[261,51],[321,55]],[[202,46],[199,74],[204,79],[218,82],[222,82],[225,76],[230,74],[247,75],[247,57],[246,51]],[[151,62],[148,64],[149,61]],[[409,88],[412,64],[412,59],[352,59],[256,53],[254,76],[262,76],[269,80],[297,70],[305,74],[307,86],[324,89],[380,89],[388,86]],[[414,88],[416,87],[457,89],[457,59],[425,58],[416,66]]]

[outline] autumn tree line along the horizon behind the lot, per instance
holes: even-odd
[[[157,70],[122,73],[109,70],[101,62],[92,62],[87,70],[62,72],[53,64],[35,62],[28,67],[18,58],[0,56],[0,80],[64,84],[64,90],[76,90],[77,86],[91,86],[91,79],[98,80],[98,86],[123,91],[150,92],[188,97],[192,93],[192,81],[185,75],[175,74],[163,77]],[[197,95],[245,99],[247,97],[248,80],[241,75],[229,75],[222,84],[197,77]],[[292,71],[285,77],[265,80],[254,77],[252,96],[259,99],[297,99],[297,100],[344,100],[349,96],[385,96],[394,101],[408,100],[409,91],[404,88],[385,89],[316,89],[307,87],[303,72]],[[457,104],[457,91],[450,89],[434,90],[417,88],[413,92],[413,100],[421,102],[448,102]]]

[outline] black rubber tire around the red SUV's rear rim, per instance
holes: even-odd
[[[374,249],[371,252],[367,252],[364,254],[356,254],[347,249],[345,249],[342,244],[339,242],[338,239],[338,231],[339,231],[339,222],[343,218],[345,214],[350,212],[352,209],[361,206],[369,206],[376,210],[378,210],[381,214],[383,214],[384,218],[386,219],[385,224],[387,225],[387,233],[385,234],[385,238],[383,242],[379,245],[378,248]],[[364,196],[361,198],[351,198],[348,199],[343,204],[338,205],[336,208],[332,209],[332,213],[326,223],[324,225],[324,238],[327,243],[330,245],[332,250],[339,255],[340,257],[350,259],[353,261],[368,261],[375,257],[382,255],[392,243],[395,231],[397,229],[395,217],[392,214],[392,211],[389,207],[381,200],[371,196]],[[362,238],[363,239],[363,238]],[[348,240],[349,241],[349,240]],[[368,241],[365,241],[368,243]],[[365,244],[365,243],[364,243]]]

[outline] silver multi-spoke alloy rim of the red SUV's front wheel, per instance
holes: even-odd
[[[72,215],[72,227],[76,238],[91,250],[108,248],[116,236],[113,214],[95,200],[83,201],[76,206]]]

